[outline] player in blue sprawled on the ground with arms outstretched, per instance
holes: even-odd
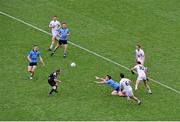
[[[119,83],[115,82],[112,80],[110,75],[106,75],[105,78],[100,78],[98,76],[95,76],[96,80],[98,80],[99,82],[96,83],[100,83],[100,84],[108,84],[109,86],[111,86],[113,88],[113,91],[111,93],[111,95],[113,96],[126,96],[126,94],[122,94],[122,92],[119,89]]]

